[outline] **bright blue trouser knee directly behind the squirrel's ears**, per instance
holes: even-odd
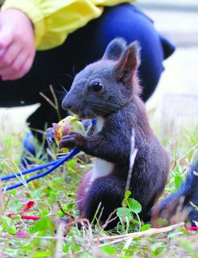
[[[141,45],[139,76],[143,86],[143,98],[147,100],[154,91],[163,71],[163,46],[152,21],[131,4],[107,8],[101,16],[95,43],[101,52],[115,37],[123,37],[128,43],[138,40]]]

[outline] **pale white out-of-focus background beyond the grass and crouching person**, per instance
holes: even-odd
[[[138,0],[135,4],[177,46],[175,53],[164,62],[165,71],[147,102],[152,127],[158,127],[162,134],[171,132],[172,136],[185,128],[195,130],[198,124],[198,0]],[[7,133],[18,133],[37,107],[0,108],[1,124]]]

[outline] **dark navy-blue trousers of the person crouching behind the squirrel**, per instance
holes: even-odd
[[[66,14],[65,14],[66,15]],[[28,122],[32,128],[44,129],[57,121],[53,107],[39,94],[42,91],[52,99],[49,84],[54,90],[67,90],[74,76],[87,64],[102,57],[107,44],[115,37],[123,37],[128,43],[139,40],[142,47],[142,64],[139,76],[143,86],[143,99],[153,93],[163,71],[162,61],[174,52],[174,46],[162,38],[152,21],[130,4],[106,7],[103,14],[85,27],[70,34],[64,44],[48,51],[37,52],[31,71],[16,81],[0,81],[0,106],[13,107],[37,102],[41,107],[32,114]],[[62,90],[63,91],[63,90]],[[59,101],[63,93],[56,94]],[[60,107],[63,117],[63,113]]]

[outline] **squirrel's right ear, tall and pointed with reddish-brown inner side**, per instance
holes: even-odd
[[[140,65],[140,45],[138,41],[132,42],[122,53],[117,68],[122,75],[123,82],[131,82],[134,73]]]

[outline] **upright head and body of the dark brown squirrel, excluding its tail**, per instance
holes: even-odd
[[[161,195],[169,173],[169,157],[155,137],[140,97],[138,79],[140,46],[137,41],[127,45],[115,38],[103,57],[79,72],[62,107],[80,119],[96,119],[93,135],[87,137],[70,132],[60,140],[60,148],[78,147],[96,157],[94,168],[87,172],[77,190],[77,206],[82,218],[92,221],[101,203],[100,221],[122,206],[131,154],[132,131],[135,132],[137,155],[133,165],[129,190],[142,205],[141,219],[150,220],[166,206],[153,208]],[[50,139],[51,139],[51,130]],[[160,213],[161,214],[161,213]],[[114,228],[118,218],[109,222],[106,230]]]

